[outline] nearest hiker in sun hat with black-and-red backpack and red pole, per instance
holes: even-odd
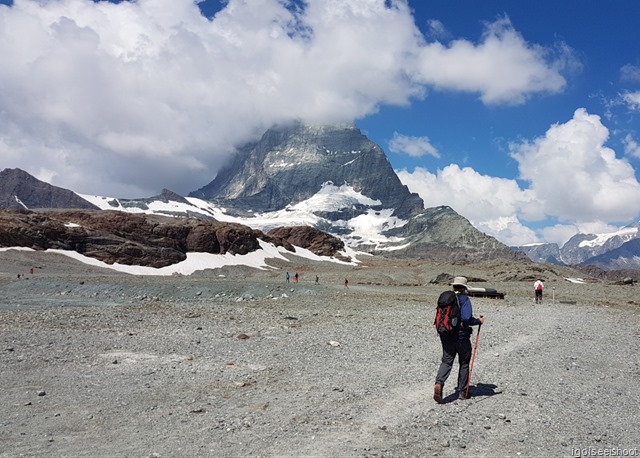
[[[467,296],[467,279],[455,277],[451,283],[455,294],[443,292],[438,298],[438,312],[435,325],[442,343],[442,361],[436,384],[433,387],[433,399],[442,403],[442,390],[449,378],[453,361],[458,355],[458,386],[456,397],[467,399],[467,384],[469,383],[469,362],[471,361],[471,326],[484,323],[484,318],[473,317],[473,305]],[[447,304],[441,302],[447,302]],[[441,310],[442,309],[442,310]]]

